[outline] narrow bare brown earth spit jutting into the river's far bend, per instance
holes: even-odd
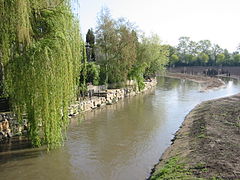
[[[218,89],[225,87],[225,83],[215,77],[207,77],[207,76],[200,76],[200,75],[191,75],[191,74],[184,74],[184,73],[166,73],[164,76],[170,78],[177,78],[177,79],[187,79],[190,81],[197,82],[201,84],[200,91],[209,91],[213,89]]]

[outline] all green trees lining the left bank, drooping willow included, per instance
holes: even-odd
[[[88,85],[121,89],[133,80],[141,91],[168,63],[157,35],[145,36],[105,8],[84,42],[72,3],[0,1],[0,96],[36,147],[62,145],[69,107],[92,98]]]

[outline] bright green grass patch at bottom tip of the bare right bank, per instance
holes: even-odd
[[[151,177],[151,180],[170,179],[203,180],[202,178],[194,177],[185,167],[185,164],[181,163],[181,158],[178,156],[170,158],[165,165]]]

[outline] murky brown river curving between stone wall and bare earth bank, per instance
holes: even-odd
[[[240,92],[226,83],[200,92],[195,82],[158,77],[149,92],[72,118],[64,147],[0,152],[0,179],[144,180],[191,109]]]

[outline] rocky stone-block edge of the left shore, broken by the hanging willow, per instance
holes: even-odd
[[[93,95],[91,98],[76,101],[74,104],[70,105],[68,110],[69,125],[72,122],[72,117],[115,104],[125,98],[131,98],[153,89],[157,85],[157,80],[156,78],[152,78],[151,80],[144,82],[144,84],[145,88],[140,91],[134,89],[132,86],[121,89],[106,89],[105,91],[97,93],[103,93],[103,96]],[[19,125],[16,116],[12,112],[1,113],[0,118],[2,118],[1,120],[6,124],[3,126],[2,122],[0,122],[0,152],[5,152],[5,149],[9,150],[9,147],[4,147],[4,144],[7,144],[9,141],[14,141],[16,145],[18,141],[19,144],[21,144],[22,139],[24,139],[27,143],[24,143],[23,146],[21,144],[20,146],[23,148],[30,146],[30,143],[28,142],[29,140],[26,141],[26,139],[28,139],[26,137],[27,120],[24,119],[24,124]],[[21,149],[21,147],[19,149]],[[13,149],[14,148],[16,147],[13,147]]]

